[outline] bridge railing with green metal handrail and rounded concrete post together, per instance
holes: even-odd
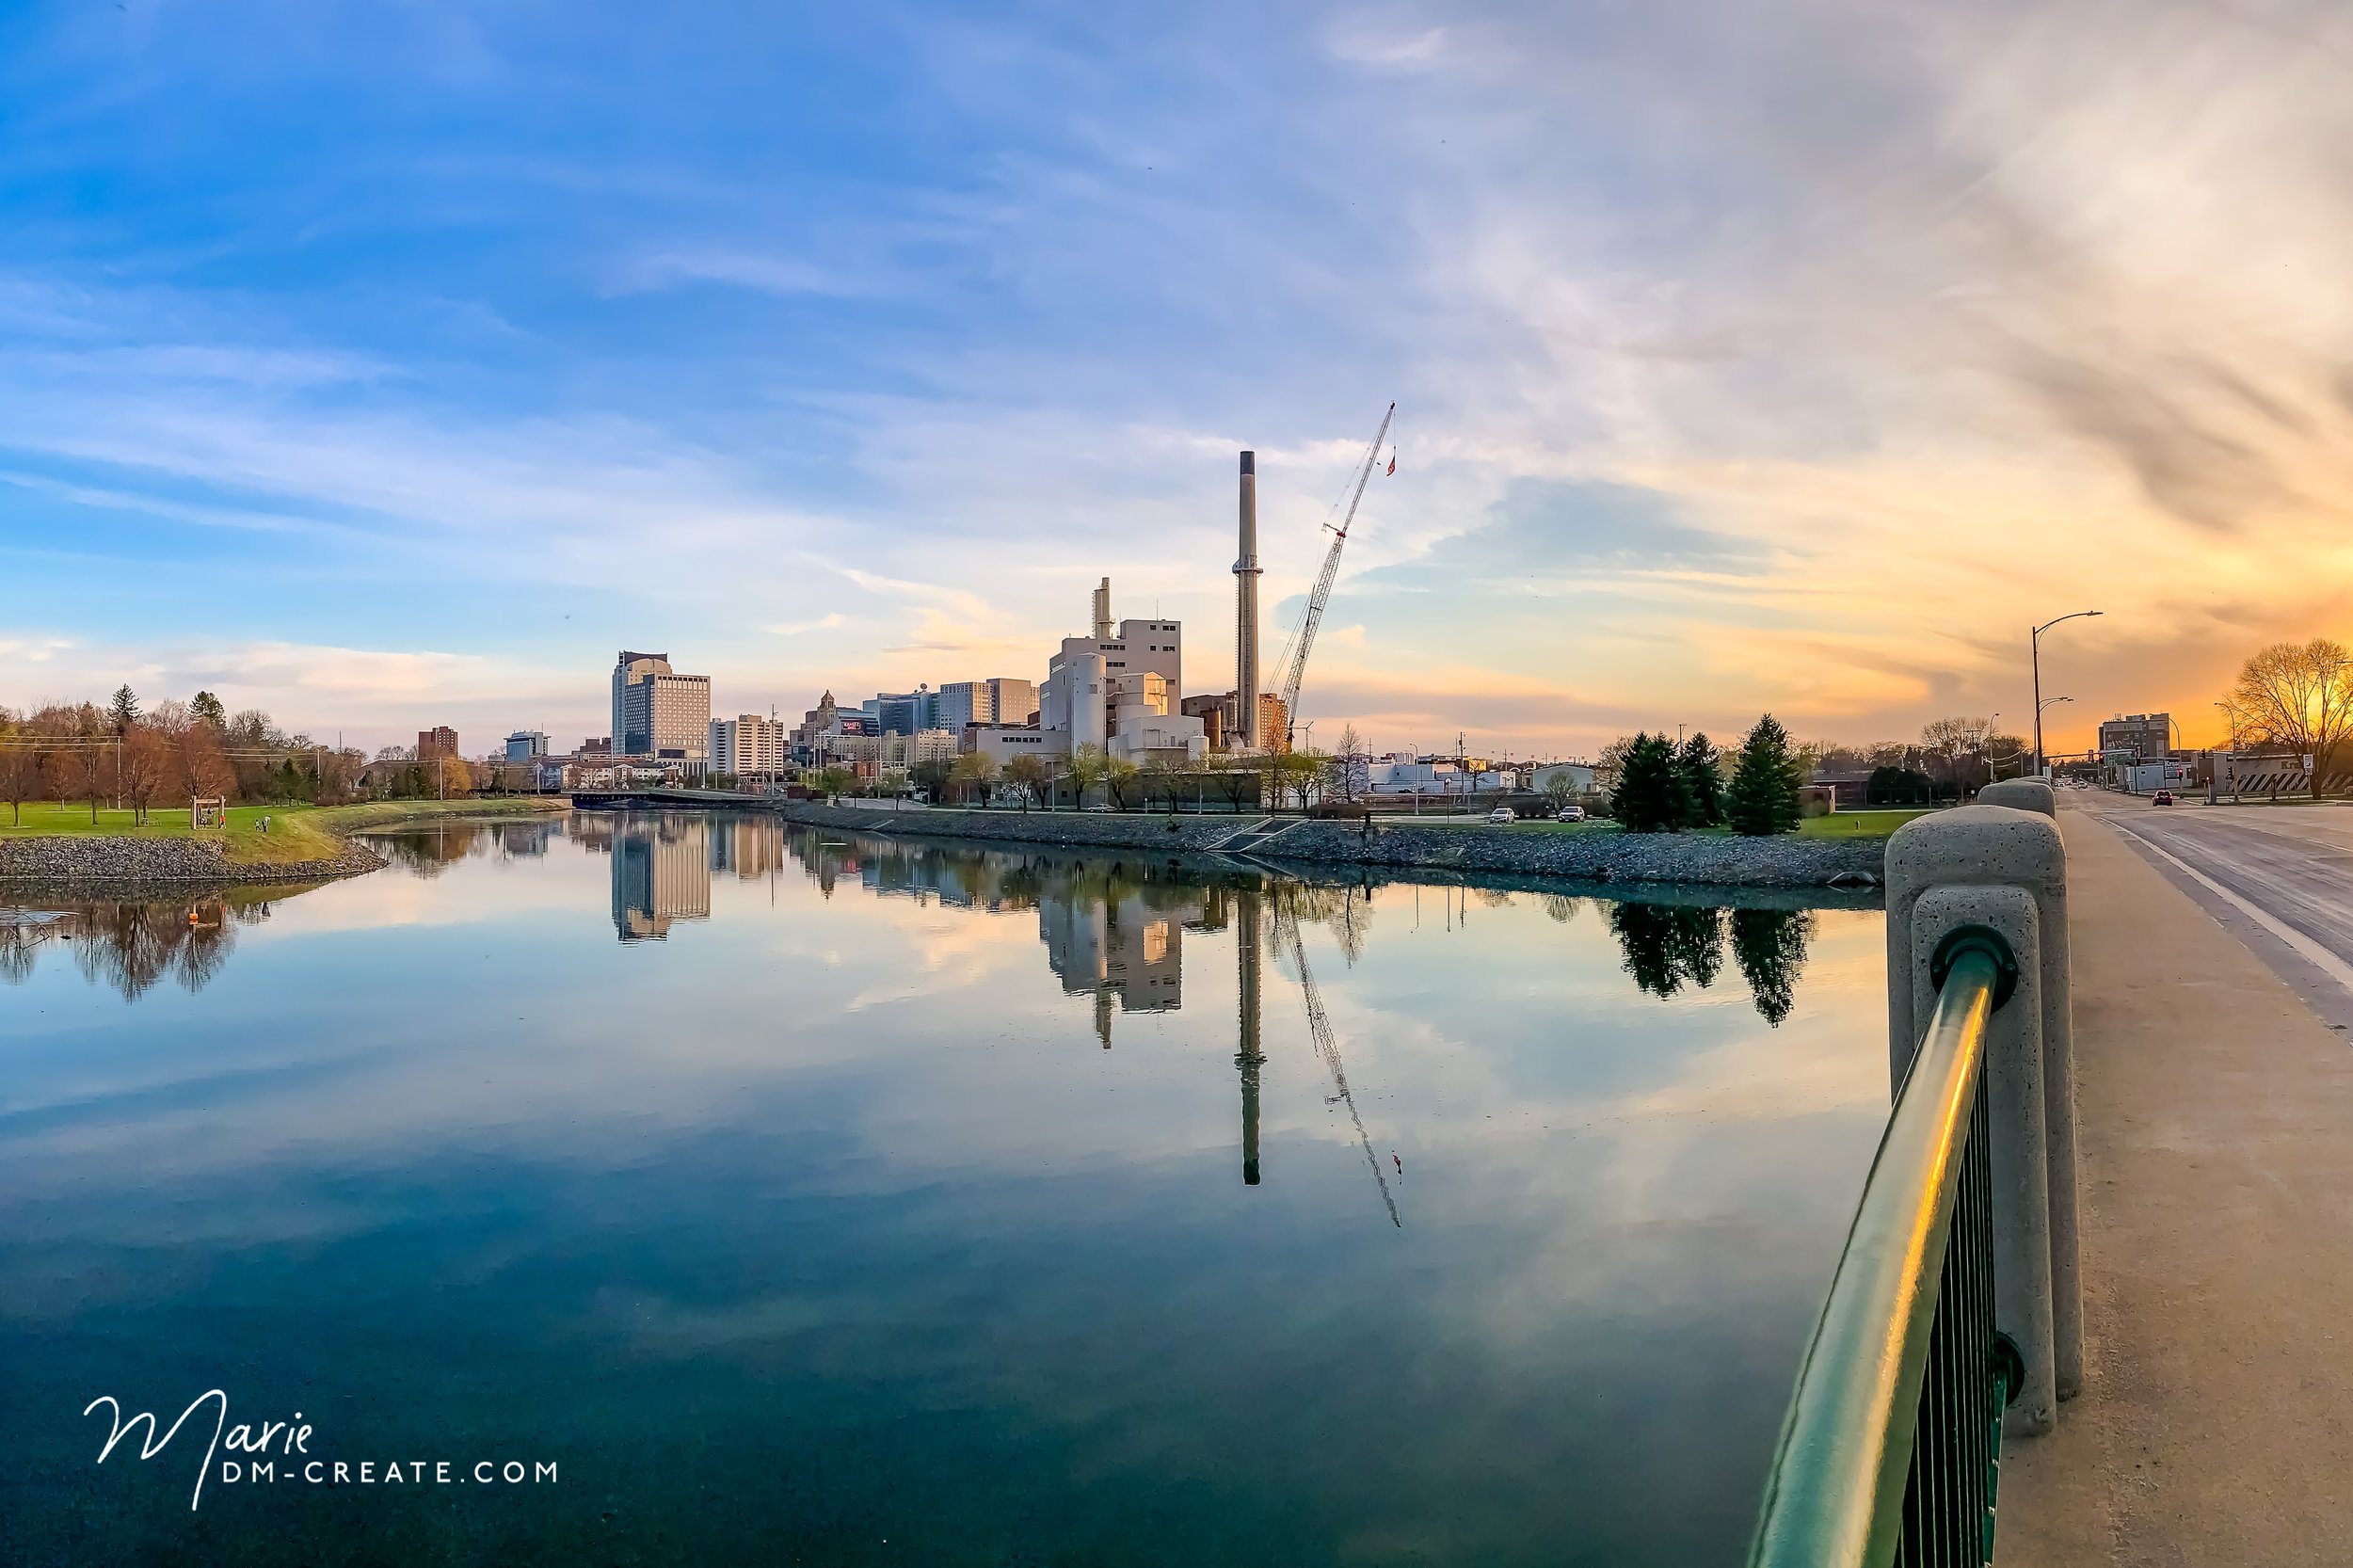
[[[2002,1436],[2049,1431],[2080,1382],[2066,852],[2047,786],[1995,800],[1887,850],[1894,1109],[1758,1568],[1991,1563]]]

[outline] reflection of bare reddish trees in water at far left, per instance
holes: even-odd
[[[139,1001],[162,979],[202,991],[238,946],[238,925],[271,918],[275,895],[193,899],[82,899],[0,909],[0,979],[31,979],[45,946],[73,951],[82,979]]]

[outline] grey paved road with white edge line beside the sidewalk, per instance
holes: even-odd
[[[2148,805],[2059,791],[2353,1031],[2353,805]]]

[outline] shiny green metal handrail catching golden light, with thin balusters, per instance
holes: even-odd
[[[1972,1128],[1984,1125],[1986,1026],[2007,996],[2007,949],[1998,942],[1984,932],[1948,954],[1937,1012],[1887,1116],[1831,1297],[1805,1349],[1751,1568],[1885,1568],[1911,1535],[1906,1490],[1955,1208],[1972,1229],[1986,1208],[1960,1198]],[[1984,1168],[1981,1147],[1974,1165]],[[1986,1253],[1984,1238],[1969,1250],[1972,1257]],[[1991,1293],[1991,1253],[1974,1262]],[[1972,1321],[1988,1318],[1977,1349],[1986,1356],[1991,1314],[1974,1302],[1969,1311]],[[1988,1410],[1998,1424],[2000,1396]],[[1955,1410],[1951,1417],[1981,1420],[1984,1413]],[[1991,1476],[1984,1481],[1991,1507]],[[1988,1559],[1991,1542],[1974,1561]]]

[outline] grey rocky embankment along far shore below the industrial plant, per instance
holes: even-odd
[[[1066,850],[1148,855],[1242,855],[1264,862],[1351,864],[1581,883],[1697,883],[1713,888],[1875,888],[1885,838],[1727,838],[1689,833],[1553,833],[1487,826],[1414,826],[1412,819],[1167,817],[1005,810],[859,810],[788,800],[769,805],[786,822],[852,833],[972,838]]]

